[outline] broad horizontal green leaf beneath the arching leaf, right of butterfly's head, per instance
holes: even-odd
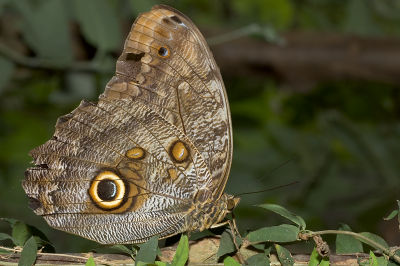
[[[297,226],[281,224],[250,232],[247,239],[250,242],[293,242],[297,240],[299,232]]]

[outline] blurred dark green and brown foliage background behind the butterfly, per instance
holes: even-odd
[[[96,244],[49,228],[21,188],[29,150],[58,116],[96,100],[137,14],[188,15],[227,88],[234,158],[226,187],[245,195],[241,231],[278,225],[277,203],[310,230],[370,231],[399,245],[400,2],[393,0],[0,1],[0,217],[43,230],[59,252]],[[8,226],[0,223],[0,229]]]

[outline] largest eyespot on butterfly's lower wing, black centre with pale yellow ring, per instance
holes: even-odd
[[[126,187],[124,181],[111,171],[98,174],[90,184],[89,196],[101,209],[118,208],[124,202]]]

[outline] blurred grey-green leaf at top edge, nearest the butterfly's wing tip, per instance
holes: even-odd
[[[102,51],[121,48],[117,10],[107,0],[74,0],[74,13],[85,39]]]

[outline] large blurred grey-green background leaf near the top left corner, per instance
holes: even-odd
[[[28,45],[43,58],[72,60],[69,17],[63,0],[12,2],[21,13],[22,33]],[[60,12],[60,11],[63,12]]]

